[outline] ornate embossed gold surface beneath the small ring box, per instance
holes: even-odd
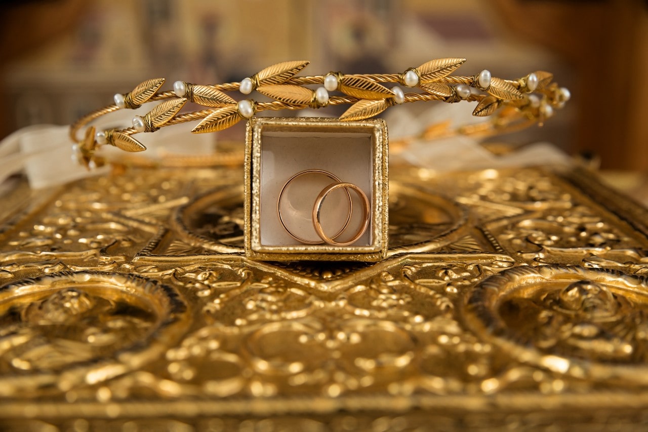
[[[3,430],[643,430],[647,213],[392,167],[379,263],[244,258],[242,169],[3,197]]]

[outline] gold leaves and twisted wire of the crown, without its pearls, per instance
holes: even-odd
[[[312,96],[308,97],[308,91],[307,90],[301,90],[297,91],[297,93],[294,93],[295,90],[288,90],[289,88],[284,87],[284,88],[277,88],[275,91],[279,91],[279,96],[275,97],[275,99],[282,99],[281,98],[281,91],[287,91],[288,96],[286,96],[286,100],[275,100],[275,101],[270,101],[270,102],[257,102],[250,100],[251,104],[253,105],[253,112],[262,112],[265,110],[301,110],[304,108],[320,108],[323,106],[328,106],[328,105],[344,105],[344,104],[351,104],[352,107],[349,108],[347,113],[345,113],[345,117],[351,119],[351,118],[366,118],[366,117],[371,117],[373,115],[378,114],[382,110],[388,108],[389,106],[393,106],[397,103],[402,103],[402,102],[419,102],[419,101],[444,101],[444,102],[459,102],[459,101],[468,101],[468,102],[479,102],[478,107],[475,109],[474,114],[475,115],[492,115],[492,121],[489,123],[481,123],[479,125],[470,125],[470,126],[464,126],[462,128],[456,128],[455,130],[444,130],[444,132],[439,132],[440,130],[443,130],[443,128],[437,128],[437,127],[432,127],[428,128],[428,130],[424,131],[423,134],[426,137],[434,136],[435,134],[441,133],[441,134],[496,134],[501,132],[502,130],[517,130],[519,128],[524,128],[530,124],[536,123],[538,120],[542,121],[544,117],[548,117],[553,110],[551,110],[551,106],[549,108],[546,108],[544,112],[549,112],[549,114],[544,114],[542,110],[539,111],[540,114],[538,114],[538,104],[533,105],[531,107],[531,99],[527,98],[524,96],[524,93],[531,93],[532,89],[531,86],[527,86],[527,82],[531,78],[531,74],[527,75],[527,77],[520,78],[518,80],[502,80],[500,78],[492,78],[493,80],[498,80],[498,88],[496,89],[494,93],[492,91],[489,91],[489,88],[482,88],[480,85],[478,85],[478,75],[470,75],[470,76],[458,76],[458,75],[450,75],[448,73],[449,71],[453,71],[457,67],[461,66],[465,62],[465,59],[457,59],[457,58],[446,58],[446,59],[438,59],[438,60],[432,60],[431,62],[428,62],[419,68],[410,68],[407,69],[406,72],[404,73],[391,73],[391,74],[367,74],[367,75],[343,75],[342,73],[334,73],[334,75],[338,79],[338,83],[341,82],[342,78],[352,78],[350,80],[347,80],[346,82],[352,82],[354,84],[345,84],[347,87],[345,88],[345,95],[336,95],[336,96],[330,96],[328,97],[326,102],[317,102],[316,97],[315,97],[315,92],[312,91],[310,93]],[[283,64],[277,64],[270,66],[263,71],[259,72],[258,74],[252,75],[250,79],[253,81],[253,88],[256,88],[259,85],[262,86],[273,86],[273,85],[283,85],[283,86],[310,86],[310,85],[321,85],[324,83],[326,75],[312,75],[312,76],[302,76],[302,77],[297,77],[295,76],[295,73],[297,73],[303,66],[305,66],[308,62],[285,62]],[[295,67],[295,64],[298,66]],[[444,69],[445,68],[445,69]],[[405,75],[408,71],[414,71],[419,78],[419,81],[422,81],[422,83],[428,83],[428,82],[434,82],[435,84],[441,84],[442,90],[439,90],[439,94],[434,94],[434,88],[427,90],[427,89],[421,89],[425,90],[424,93],[415,93],[415,92],[409,92],[409,93],[402,93],[402,101],[399,101],[396,98],[396,95],[399,94],[397,93],[396,89],[391,90],[391,95],[389,93],[389,89],[382,87],[382,84],[379,83],[393,83],[393,84],[404,84],[405,82]],[[561,107],[564,101],[568,99],[569,92],[568,91],[563,91],[562,95],[566,96],[561,96],[561,91],[563,89],[559,89],[557,87],[557,84],[551,83],[551,74],[546,73],[546,72],[538,72],[540,77],[542,77],[543,80],[543,88],[539,89],[536,93],[541,93],[542,95],[542,104],[547,104],[547,105],[553,105],[553,106],[558,106]],[[283,74],[283,75],[282,75]],[[287,75],[286,75],[287,74]],[[291,76],[292,75],[292,76]],[[328,74],[327,74],[328,75]],[[480,75],[481,76],[481,75]],[[488,75],[490,77],[490,74]],[[287,78],[286,78],[287,77]],[[540,77],[536,77],[538,82],[540,80]],[[353,79],[356,78],[356,79]],[[152,84],[150,84],[152,82]],[[155,91],[159,88],[159,85],[161,85],[161,82],[163,82],[163,79],[159,78],[156,80],[150,80],[143,82],[140,84],[135,90],[137,91],[138,95],[141,96],[143,94],[143,91],[147,91],[146,89],[148,88],[148,91]],[[493,81],[494,82],[494,81]],[[548,84],[548,82],[550,84]],[[358,84],[361,83],[361,84]],[[372,84],[376,83],[376,84]],[[186,99],[189,101],[194,101],[194,85],[195,84],[189,84],[185,83],[187,86],[187,94],[184,95]],[[421,82],[419,82],[421,84]],[[443,85],[448,86],[446,89],[448,90],[443,90]],[[466,85],[470,86],[471,88],[477,88],[478,90],[485,91],[485,93],[474,93],[470,92],[469,95],[467,96],[462,96],[459,97],[458,93],[458,88],[454,86],[459,86],[459,85]],[[155,86],[155,87],[154,87]],[[349,86],[352,86],[351,90],[349,89]],[[353,86],[357,86],[354,88]],[[377,90],[375,91],[373,88],[376,88]],[[224,92],[224,91],[238,91],[240,90],[240,82],[229,82],[229,83],[224,83],[224,84],[213,84],[211,86],[200,86],[201,88],[213,88],[216,91]],[[419,85],[417,84],[417,86]],[[354,90],[355,89],[355,90]],[[529,90],[530,89],[530,90]],[[204,90],[202,90],[202,96],[204,96]],[[211,90],[207,90],[207,93],[209,93]],[[292,91],[293,93],[290,93]],[[372,93],[373,91],[373,93]],[[400,91],[400,90],[399,90]],[[305,93],[305,94],[304,94]],[[295,96],[297,95],[297,96]],[[126,107],[132,107],[134,108],[134,102],[133,102],[133,95],[132,93],[126,93],[123,95],[124,97],[124,104]],[[152,94],[148,99],[143,99],[139,97],[137,99],[138,102],[145,103],[145,102],[156,102],[156,101],[165,101],[167,99],[176,99],[178,96],[174,91],[158,91],[157,93]],[[159,125],[159,127],[152,127],[152,125],[148,125],[145,128],[145,132],[152,132],[154,130],[157,130],[157,128],[164,127],[164,126],[170,126],[170,125],[177,125],[179,123],[187,123],[189,121],[198,121],[201,120],[203,121],[206,117],[208,117],[211,114],[215,114],[218,112],[218,110],[222,110],[219,112],[220,114],[216,115],[214,119],[208,119],[207,122],[203,121],[198,127],[194,129],[194,132],[207,132],[209,130],[219,130],[219,128],[227,127],[229,125],[233,125],[233,123],[236,123],[238,120],[240,120],[242,117],[242,114],[238,114],[238,108],[235,104],[230,103],[227,104],[228,102],[224,102],[223,106],[218,106],[218,104],[222,101],[227,101],[229,97],[226,97],[224,95],[214,95],[213,93],[208,94],[207,97],[213,97],[214,99],[209,99],[210,101],[215,101],[215,106],[209,104],[209,108],[205,108],[203,110],[198,110],[194,112],[184,112],[180,114],[176,114],[174,112],[174,115],[168,115],[168,120]],[[562,100],[561,100],[562,97]],[[364,99],[364,98],[369,98],[369,99]],[[378,98],[378,99],[373,99],[373,98]],[[198,100],[205,100],[205,99],[198,99]],[[233,99],[229,98],[229,101],[233,101]],[[290,101],[290,102],[288,102]],[[364,105],[358,104],[358,102],[361,101],[366,101],[364,102]],[[536,100],[537,102],[537,100]],[[357,104],[357,107],[356,107]],[[139,106],[139,105],[138,105]],[[161,106],[161,105],[160,105]],[[365,110],[365,107],[369,106],[370,108]],[[515,108],[515,110],[507,111],[505,114],[502,113],[502,110],[498,111],[498,108],[501,106],[511,106]],[[532,112],[530,111],[531,108],[535,109],[536,111]],[[542,106],[544,108],[544,106]],[[110,114],[111,112],[114,112],[118,110],[119,107],[116,104],[111,104],[108,106],[105,106],[104,108],[100,108],[99,110],[95,112],[91,112],[90,114],[84,115],[84,117],[81,117],[75,123],[71,125],[70,128],[70,137],[73,141],[81,143],[82,141],[84,142],[84,145],[79,146],[82,152],[85,152],[82,154],[82,160],[84,162],[88,162],[93,158],[95,149],[98,147],[98,145],[102,145],[102,143],[98,143],[97,140],[92,141],[92,137],[86,136],[86,138],[78,138],[78,131],[83,128],[84,126],[88,125],[98,117],[101,117],[102,115]],[[156,107],[158,110],[159,115],[159,110],[164,110],[167,109],[165,108],[159,108]],[[365,110],[365,111],[363,111]],[[176,109],[177,111],[177,109]],[[348,114],[349,112],[353,112],[353,114]],[[358,114],[360,113],[360,114]],[[497,113],[497,114],[495,114]],[[348,115],[347,115],[348,114]],[[149,117],[144,116],[143,118],[146,120],[148,119],[150,122],[150,113],[146,114]],[[232,116],[239,116],[237,118],[234,118]],[[365,117],[363,117],[365,116]],[[227,117],[227,119],[224,119]],[[220,122],[220,123],[214,123],[214,122]],[[156,123],[157,125],[158,123]],[[203,124],[207,126],[203,126]],[[216,126],[212,126],[212,125]],[[118,134],[119,132],[119,134]],[[121,130],[110,130],[110,131],[104,131],[105,136],[108,138],[106,141],[108,144],[115,145],[113,143],[113,139],[117,139],[117,136],[131,136],[133,134],[137,134],[138,131],[135,130],[135,128],[128,127],[128,128],[123,128]],[[86,134],[87,135],[87,134]],[[123,138],[119,138],[123,139]],[[128,138],[133,140],[133,138]],[[123,142],[122,143],[122,148],[126,149],[143,149],[143,146],[137,146],[137,140],[131,141],[128,143],[128,145],[124,146]]]

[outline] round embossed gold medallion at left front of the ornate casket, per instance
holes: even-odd
[[[0,289],[2,396],[69,390],[137,370],[181,337],[178,294],[139,276],[62,272]]]

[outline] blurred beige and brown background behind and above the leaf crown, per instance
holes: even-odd
[[[395,73],[452,56],[468,59],[461,75],[540,69],[571,90],[544,127],[498,139],[648,170],[645,0],[16,1],[0,24],[0,138],[69,124],[147,78],[240,81],[286,60],[311,60],[309,75]]]

